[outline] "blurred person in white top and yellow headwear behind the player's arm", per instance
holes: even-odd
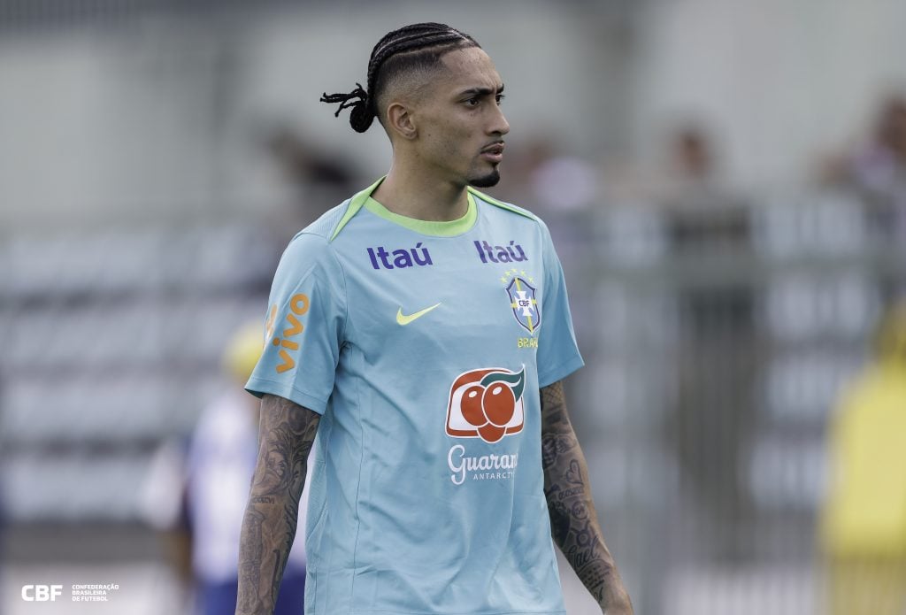
[[[258,322],[234,334],[223,354],[228,387],[202,412],[188,453],[163,447],[145,485],[146,518],[163,531],[178,574],[189,576],[198,615],[236,610],[239,531],[255,470],[259,404],[242,387],[261,356],[262,340]],[[275,615],[303,609],[307,496],[306,487],[300,537],[286,563]]]

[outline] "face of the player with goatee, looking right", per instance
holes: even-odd
[[[500,111],[503,82],[477,47],[447,53],[441,62],[447,71],[438,73],[414,112],[419,158],[441,180],[494,186],[509,132]]]

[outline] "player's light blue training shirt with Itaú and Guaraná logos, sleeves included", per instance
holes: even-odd
[[[548,230],[472,188],[399,216],[379,184],[286,248],[246,384],[323,415],[305,613],[562,615],[538,389],[583,360]]]

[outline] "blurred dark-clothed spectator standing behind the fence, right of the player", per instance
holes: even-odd
[[[751,509],[741,477],[755,418],[755,293],[747,280],[713,265],[747,253],[748,209],[721,185],[707,130],[689,123],[673,131],[668,160],[656,194],[670,249],[703,275],[678,291],[682,360],[666,437],[701,507],[694,517],[709,539],[701,543],[735,560],[750,553],[738,537]]]

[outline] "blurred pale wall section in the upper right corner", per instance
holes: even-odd
[[[906,86],[902,0],[655,0],[638,24],[641,157],[677,118],[709,118],[738,186],[801,182]]]

